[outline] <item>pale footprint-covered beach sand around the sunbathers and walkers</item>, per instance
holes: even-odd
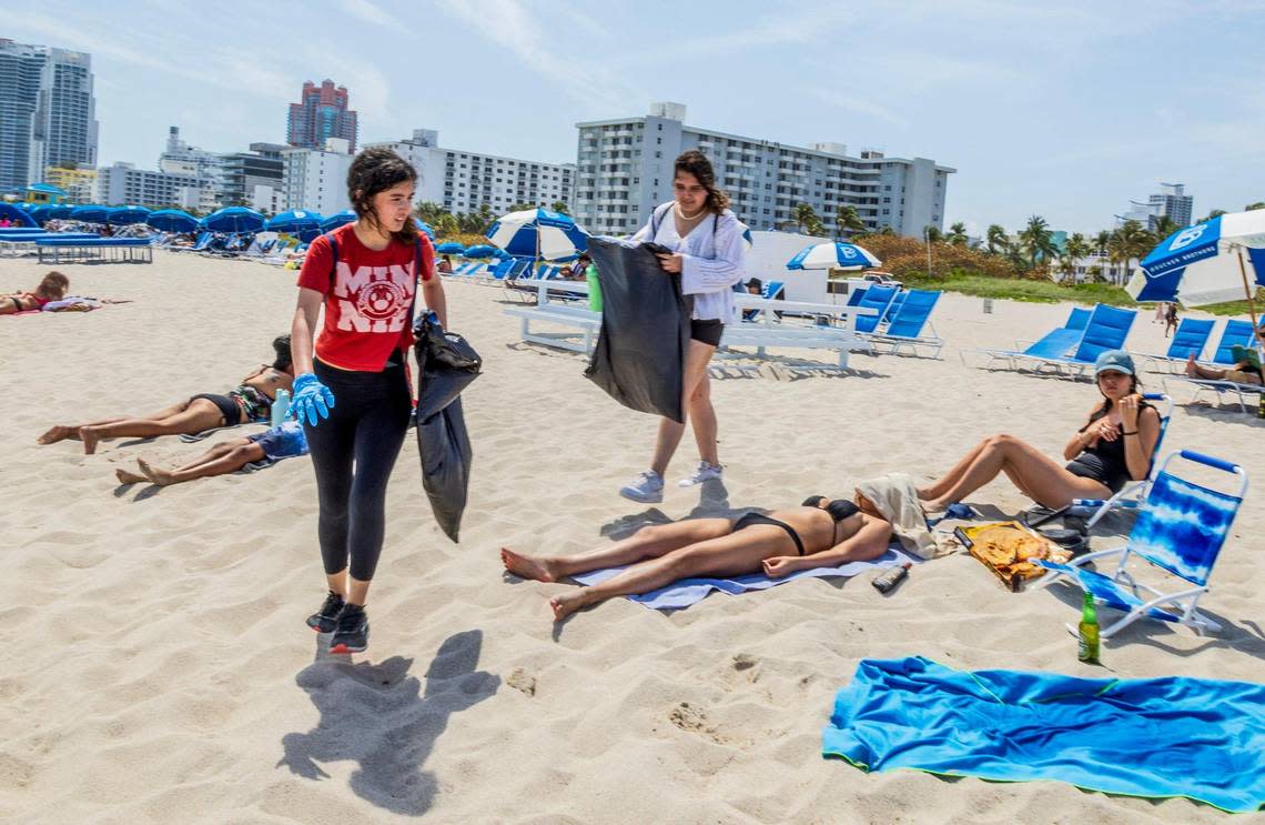
[[[960,349],[1009,347],[1066,305],[946,295],[942,361],[854,358],[846,376],[713,372],[726,495],[674,480],[657,506],[616,495],[655,421],[582,377],[582,356],[525,345],[503,290],[449,283],[452,325],[484,375],[464,406],[474,444],[460,544],[435,526],[410,434],[387,502],[369,650],[330,658],[304,626],[324,596],[307,459],[170,488],[120,487],[138,456],[170,464],[218,440],[38,447],[53,424],[224,392],[288,330],[295,272],[158,252],[151,266],[66,266],[71,292],[130,300],[0,318],[6,438],[0,525],[0,820],[14,822],[1202,822],[1216,809],[1054,782],[867,774],[821,757],[835,692],[863,658],[1087,677],[1265,681],[1265,507],[1259,488],[1202,602],[1197,636],[1138,623],[1077,661],[1069,597],[1009,593],[979,563],[922,564],[888,597],[853,580],[713,595],[672,615],[617,599],[555,628],[571,585],[506,576],[497,549],[574,553],[650,521],[850,496],[888,471],[939,475],[1007,431],[1058,456],[1097,397],[1088,382],[987,372]],[[0,291],[48,270],[0,259]],[[1161,353],[1144,310],[1128,347]],[[1198,313],[1190,313],[1198,315]],[[1218,323],[1217,334],[1219,335]],[[968,358],[968,362],[972,362]],[[978,359],[977,359],[978,362]],[[751,362],[748,362],[751,363]],[[1157,373],[1146,388],[1163,390]],[[1265,420],[1178,401],[1169,448],[1240,462],[1265,483]],[[248,428],[247,433],[259,431]],[[1004,481],[985,515],[1027,506]],[[1112,516],[1093,547],[1127,530]],[[1145,747],[1145,743],[1140,743]]]

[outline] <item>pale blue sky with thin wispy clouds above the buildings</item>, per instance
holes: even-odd
[[[361,139],[571,161],[578,120],[640,115],[958,168],[973,232],[1112,225],[1159,181],[1197,216],[1265,200],[1265,1],[786,4],[46,0],[0,37],[92,53],[100,161],[152,168],[167,127],[285,140],[305,80],[348,86]]]

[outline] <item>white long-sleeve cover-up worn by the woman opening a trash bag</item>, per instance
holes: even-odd
[[[651,238],[654,215],[659,215],[659,232]],[[708,215],[682,238],[677,234],[673,208],[664,209],[660,204],[632,240],[654,240],[681,256],[681,291],[694,297],[691,318],[717,319],[725,324],[734,321],[734,285],[745,273],[746,248],[743,244],[743,224],[732,211],[726,209],[719,218]]]

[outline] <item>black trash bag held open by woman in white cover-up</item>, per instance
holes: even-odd
[[[669,275],[646,245],[588,239],[602,287],[602,330],[584,377],[640,412],[686,420],[691,302],[681,276]]]

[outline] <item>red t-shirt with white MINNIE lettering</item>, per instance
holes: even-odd
[[[382,372],[393,349],[412,345],[409,307],[416,291],[416,247],[392,240],[386,249],[369,249],[355,237],[354,224],[333,230],[338,266],[329,238],[307,247],[299,286],[325,295],[325,324],[316,337],[316,357],[339,369]],[[421,243],[421,280],[434,277],[435,251]],[[333,277],[330,273],[333,272]]]

